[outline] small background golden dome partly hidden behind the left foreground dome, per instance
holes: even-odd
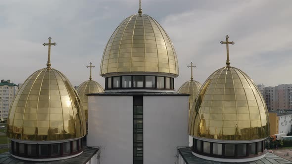
[[[86,94],[101,92],[104,92],[102,86],[93,80],[82,82],[77,88],[77,93],[80,96],[80,100],[82,101],[86,120],[88,119],[88,96]]]

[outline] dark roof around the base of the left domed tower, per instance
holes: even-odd
[[[97,151],[97,148],[84,147],[83,153],[79,156],[64,160],[48,162],[24,161],[12,157],[10,153],[7,152],[0,154],[0,164],[86,164],[97,153]]]

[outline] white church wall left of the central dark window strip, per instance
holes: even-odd
[[[87,146],[100,164],[133,164],[133,96],[89,96]]]

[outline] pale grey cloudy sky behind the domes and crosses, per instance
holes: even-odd
[[[139,0],[2,0],[0,2],[0,79],[23,83],[46,67],[51,37],[52,67],[73,85],[99,76],[103,49],[115,28],[137,13]],[[203,83],[225,66],[230,36],[231,66],[255,83],[292,83],[291,0],[143,0],[142,9],[170,36],[179,60],[176,88],[190,79],[187,66],[197,66],[194,79]]]

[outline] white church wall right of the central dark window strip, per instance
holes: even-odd
[[[144,96],[144,163],[174,164],[188,146],[188,96]]]

